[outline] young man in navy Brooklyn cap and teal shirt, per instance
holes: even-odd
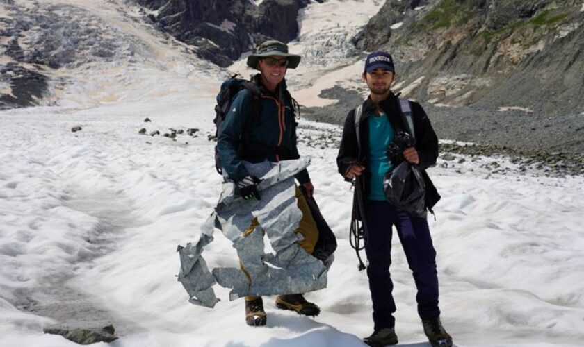
[[[349,112],[336,158],[343,177],[349,180],[357,178],[353,215],[362,221],[365,232],[367,276],[375,326],[373,334],[363,341],[370,346],[398,343],[393,316],[396,305],[391,295],[394,285],[389,274],[392,227],[396,226],[418,289],[416,301],[424,332],[432,346],[451,346],[452,339],[440,322],[436,252],[428,221],[425,217],[412,217],[404,210],[395,208],[384,195],[384,174],[399,164],[389,160],[388,146],[398,131],[409,128],[400,113],[398,97],[391,92],[395,76],[394,61],[389,53],[378,51],[366,58],[363,81],[371,93],[362,105],[358,126],[355,123],[356,111]],[[403,158],[425,170],[436,162],[438,139],[421,105],[415,102],[409,104],[416,145],[405,148]],[[439,195],[425,171],[422,173],[426,183],[426,208],[432,208]]]

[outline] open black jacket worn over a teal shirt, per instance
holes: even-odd
[[[398,105],[398,98],[390,93],[387,99],[380,102],[380,108],[387,114],[387,118],[391,126],[395,130],[407,131],[403,117],[400,115],[400,108]],[[423,108],[419,103],[412,102],[412,119],[414,121],[414,131],[416,133],[416,150],[420,159],[419,167],[422,169],[423,177],[426,183],[425,203],[426,208],[431,209],[437,203],[440,196],[432,184],[432,180],[425,169],[431,167],[436,163],[438,158],[438,137],[430,124],[428,115],[425,114]],[[368,153],[369,153],[369,127],[366,119],[375,111],[375,104],[368,98],[363,103],[363,111],[359,125],[359,142],[360,148],[357,144],[357,135],[355,133],[355,110],[351,110],[345,120],[343,128],[343,139],[341,140],[341,148],[339,155],[336,157],[336,164],[339,168],[339,173],[344,177],[345,173],[352,164],[359,163],[366,167],[364,174],[362,174],[361,186],[355,187],[355,201],[353,203],[353,212],[357,212],[357,217],[360,218],[359,209],[357,208],[357,189],[360,189],[361,196],[368,196],[369,194],[369,174],[368,174]],[[408,131],[409,132],[409,131]]]

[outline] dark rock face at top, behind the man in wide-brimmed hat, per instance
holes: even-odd
[[[298,35],[298,10],[309,0],[135,0],[163,31],[195,46],[197,54],[226,67],[270,38],[289,42]],[[322,1],[322,0],[321,0]],[[319,2],[321,2],[319,1]]]

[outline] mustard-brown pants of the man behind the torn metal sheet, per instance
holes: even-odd
[[[312,254],[312,252],[314,252],[314,246],[316,246],[316,242],[318,241],[318,228],[316,228],[316,222],[314,221],[314,218],[312,218],[312,214],[310,212],[310,208],[308,207],[308,203],[306,202],[306,198],[304,197],[304,195],[302,195],[302,192],[300,192],[300,189],[298,189],[298,187],[296,187],[296,201],[298,201],[298,208],[300,208],[300,211],[302,212],[302,218],[300,219],[300,223],[298,223],[298,228],[296,228],[294,232],[300,232],[300,234],[302,234],[302,237],[304,237],[304,239],[298,241],[298,246],[307,251],[307,253]],[[250,235],[257,226],[259,226],[257,218],[252,219],[250,226],[248,226],[248,228],[245,229],[243,235],[244,236]],[[243,264],[241,264],[241,262],[239,262],[239,268],[241,269],[241,271],[243,271],[243,273],[245,273],[245,276],[248,277],[248,281],[250,282],[251,285],[252,278],[248,271],[245,271],[245,269],[243,268]],[[246,300],[252,300],[254,298],[256,297],[255,296],[245,297]]]

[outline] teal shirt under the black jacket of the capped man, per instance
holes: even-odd
[[[387,159],[387,146],[394,140],[394,128],[387,115],[368,117],[369,126],[369,174],[371,191],[368,199],[384,201],[383,176],[394,167]]]

